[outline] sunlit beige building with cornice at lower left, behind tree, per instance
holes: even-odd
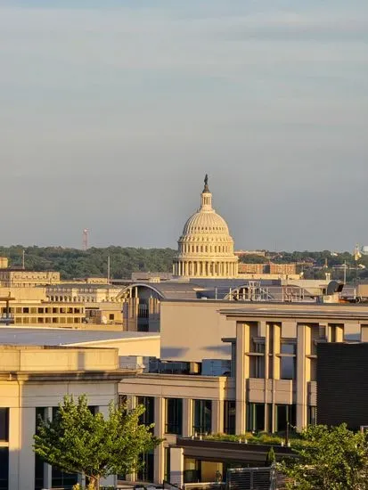
[[[86,394],[108,413],[118,384],[136,370],[121,369],[117,349],[0,346],[1,488],[41,490],[81,481],[40,461],[32,450],[37,416],[52,418],[64,395]],[[115,485],[109,478],[105,485]]]

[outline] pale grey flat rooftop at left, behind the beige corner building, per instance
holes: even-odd
[[[83,342],[139,340],[159,337],[159,333],[143,331],[80,331],[33,327],[0,327],[0,345],[68,346]]]

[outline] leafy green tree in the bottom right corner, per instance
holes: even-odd
[[[295,443],[294,443],[295,444]],[[361,432],[338,427],[310,426],[302,432],[295,458],[278,465],[289,488],[299,490],[364,490],[368,488],[368,445]]]

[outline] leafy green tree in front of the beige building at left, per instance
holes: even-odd
[[[140,423],[143,412],[143,405],[129,410],[111,403],[104,418],[90,410],[85,395],[78,403],[64,396],[53,421],[39,420],[34,452],[61,470],[85,473],[98,489],[100,478],[139,469],[139,456],[161,442],[152,436],[153,425]]]

